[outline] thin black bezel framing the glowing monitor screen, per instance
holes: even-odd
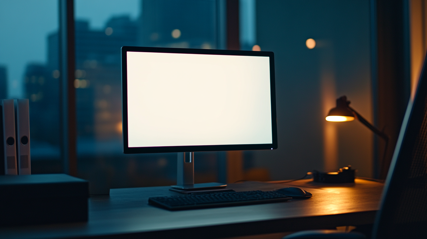
[[[272,143],[270,144],[233,144],[233,145],[203,145],[203,146],[155,146],[155,147],[129,147],[128,144],[128,105],[127,105],[127,58],[126,52],[161,52],[161,53],[183,53],[203,55],[247,55],[267,56],[270,58],[270,96],[272,114]],[[204,152],[204,151],[232,151],[232,150],[267,150],[277,149],[277,120],[276,120],[276,91],[274,53],[261,51],[239,51],[239,50],[206,50],[187,48],[163,48],[163,47],[122,47],[122,132],[123,153],[168,153],[168,152]]]

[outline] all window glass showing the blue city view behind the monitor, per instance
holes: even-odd
[[[67,1],[0,1],[0,98],[30,100],[32,173],[65,169],[60,104],[61,78],[66,73],[60,67],[58,32],[63,24],[59,23],[61,2]],[[122,152],[120,47],[225,49],[227,1],[72,2],[78,176],[90,180],[95,188],[175,184],[175,153]],[[240,45],[250,50],[255,41],[254,0],[240,2]],[[236,154],[240,160],[242,156]],[[248,160],[243,166],[252,167],[252,154],[244,156]],[[196,182],[217,181],[216,169],[219,164],[225,167],[225,157],[225,152],[196,152]]]

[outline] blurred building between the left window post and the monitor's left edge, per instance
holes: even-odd
[[[121,50],[137,44],[137,24],[112,17],[103,30],[76,21],[76,87],[79,137],[121,139]]]

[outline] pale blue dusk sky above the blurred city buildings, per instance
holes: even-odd
[[[139,5],[140,0],[76,0],[75,18],[89,20],[91,28],[97,29],[113,15],[137,18]],[[58,1],[0,1],[0,31],[0,65],[8,72],[7,97],[23,98],[26,66],[48,61],[46,38],[58,31]]]

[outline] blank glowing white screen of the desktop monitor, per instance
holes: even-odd
[[[127,52],[128,146],[272,143],[269,57]]]

